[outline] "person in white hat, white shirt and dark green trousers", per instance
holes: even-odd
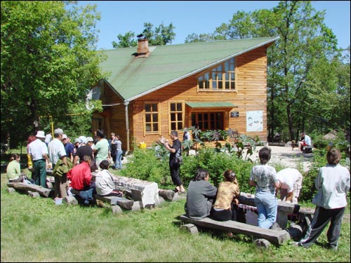
[[[37,137],[37,139],[29,144],[28,149],[28,153],[32,158],[34,167],[34,173],[32,173],[32,177],[34,177],[35,184],[46,188],[46,161],[50,160],[48,158],[48,147],[44,142],[44,131],[38,130],[35,137]]]

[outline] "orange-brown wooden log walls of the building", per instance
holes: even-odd
[[[169,138],[169,102],[183,102],[185,107],[185,127],[192,126],[192,112],[223,112],[224,128],[237,129],[239,133],[267,140],[267,53],[266,48],[256,48],[248,53],[239,55],[237,62],[237,93],[236,92],[198,92],[197,76],[186,79],[140,97],[128,105],[130,126],[130,147],[133,142],[145,142],[147,147],[159,139],[160,135]],[[121,102],[118,106],[106,108],[109,114],[100,114],[104,118],[103,128],[110,138],[110,133],[121,135],[122,148],[126,149],[126,115],[123,100],[105,84],[102,96],[104,104]],[[232,109],[208,108],[192,109],[185,102],[232,102],[237,105]],[[144,133],[144,103],[159,103],[159,133],[145,135]],[[230,112],[239,112],[239,117],[230,117]],[[246,112],[263,111],[263,130],[246,132]],[[99,116],[99,114],[95,114]],[[94,129],[94,128],[93,128]],[[179,133],[183,137],[183,133]]]

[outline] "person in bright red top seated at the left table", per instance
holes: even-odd
[[[91,188],[91,156],[84,155],[83,160],[67,173],[67,179],[71,180],[71,187],[77,191],[86,191]]]

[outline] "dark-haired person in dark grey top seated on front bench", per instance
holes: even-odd
[[[208,171],[199,169],[197,175],[190,181],[185,203],[185,213],[188,217],[201,219],[210,215],[217,188],[208,182],[209,179]]]

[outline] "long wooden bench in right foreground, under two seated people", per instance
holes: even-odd
[[[232,220],[220,222],[212,220],[209,217],[197,220],[187,217],[186,215],[180,215],[178,218],[180,221],[190,224],[187,226],[189,228],[193,228],[191,224],[194,224],[195,226],[206,227],[208,229],[244,234],[255,238],[264,238],[274,245],[282,245],[285,241],[290,239],[290,235],[286,230],[263,229],[261,227],[252,226],[251,224],[244,224]],[[192,229],[192,231],[194,231],[194,229]]]

